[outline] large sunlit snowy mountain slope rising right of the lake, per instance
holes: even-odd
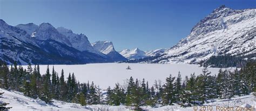
[[[213,55],[256,53],[256,9],[233,10],[224,5],[194,26],[190,35],[150,63],[198,63]]]

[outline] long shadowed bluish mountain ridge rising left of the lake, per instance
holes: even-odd
[[[70,37],[59,33],[49,23],[43,23],[38,27],[34,24],[14,27],[0,19],[0,60],[8,63],[17,61],[18,64],[113,62],[111,58],[93,48],[89,41],[85,42],[91,46],[91,49],[84,47],[84,51],[80,51],[76,49],[77,47],[72,47],[69,39]],[[92,53],[88,50],[95,50],[98,53]]]

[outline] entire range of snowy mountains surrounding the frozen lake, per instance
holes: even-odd
[[[194,26],[191,33],[169,49],[119,53],[110,41],[90,43],[49,23],[10,26],[0,19],[0,60],[9,64],[86,64],[135,60],[140,63],[193,63],[217,55],[255,58],[256,9],[233,10],[224,5]]]

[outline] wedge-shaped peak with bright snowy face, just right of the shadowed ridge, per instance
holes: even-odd
[[[127,59],[120,55],[113,46],[113,43],[110,41],[97,41],[95,43],[92,43],[92,46],[101,51],[103,54],[109,56],[109,58],[112,58],[113,61],[126,61]]]

